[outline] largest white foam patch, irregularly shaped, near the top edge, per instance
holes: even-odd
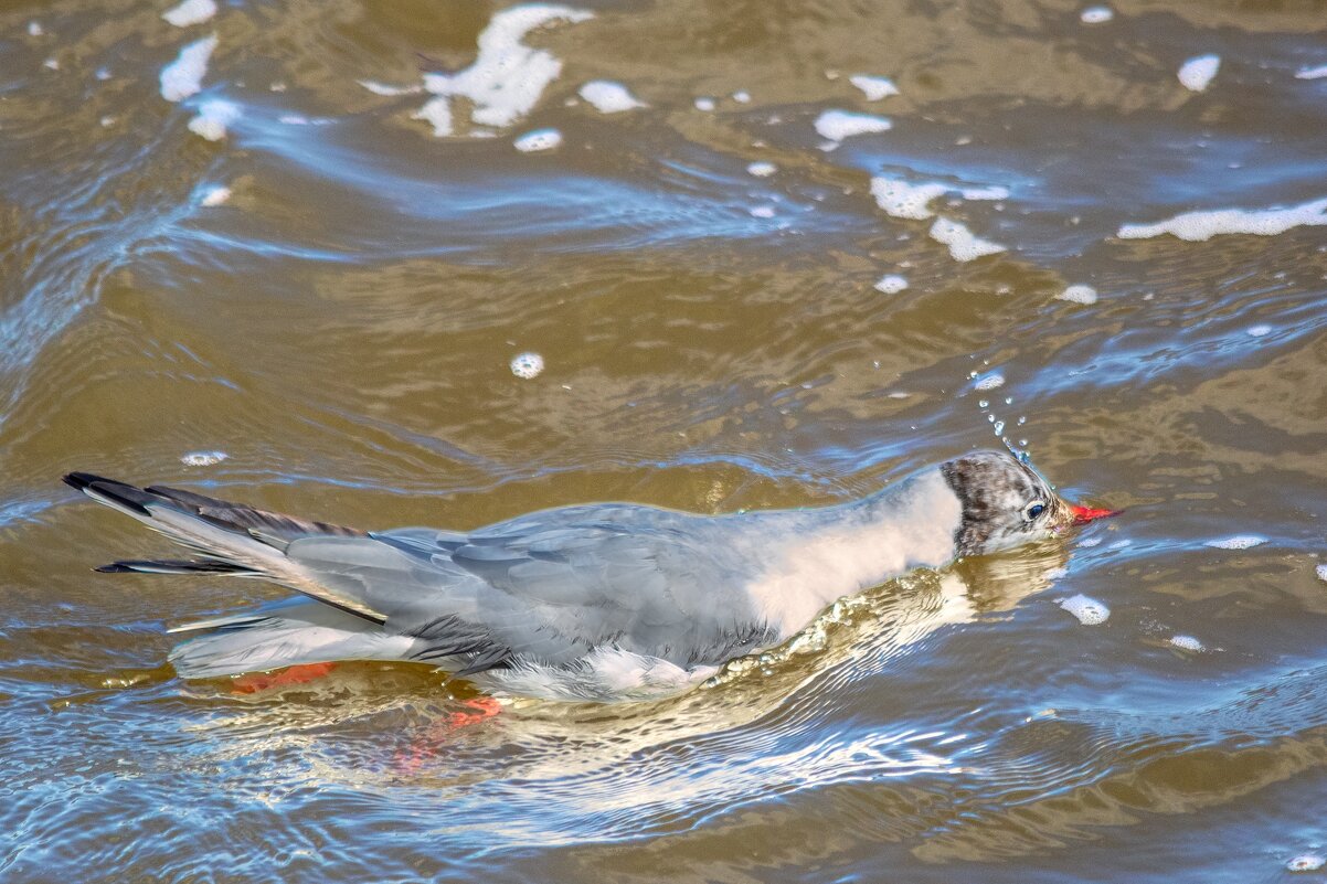
[[[470,121],[504,129],[539,102],[544,89],[563,72],[563,62],[547,49],[533,49],[522,40],[531,31],[553,21],[585,21],[592,12],[571,7],[529,4],[503,9],[479,35],[479,54],[454,74],[425,74],[423,88],[435,98],[415,111],[415,119],[433,123],[433,134],[454,134],[451,100],[470,102]]]

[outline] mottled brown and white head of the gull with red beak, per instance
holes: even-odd
[[[940,466],[963,507],[959,556],[982,555],[1117,515],[1070,503],[1032,467],[1005,451],[974,451]]]

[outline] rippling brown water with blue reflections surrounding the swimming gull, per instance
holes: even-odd
[[[0,879],[1327,877],[1327,5],[167,9],[0,11]],[[1127,515],[476,723],[182,682],[279,591],[92,573],[165,542],[58,483],[470,528],[1005,443]]]

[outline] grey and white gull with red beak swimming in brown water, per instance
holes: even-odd
[[[196,633],[170,652],[183,678],[393,660],[495,696],[591,702],[679,693],[844,596],[1115,515],[1068,503],[1003,451],[837,506],[702,515],[591,503],[475,531],[361,531],[88,473],[64,480],[195,555],[97,571],[255,577],[299,593],[171,629]]]

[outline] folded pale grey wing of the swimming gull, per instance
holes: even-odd
[[[725,520],[629,504],[565,507],[462,535],[425,528],[318,538],[288,555],[364,597],[419,658],[573,662],[598,645],[715,665],[778,640],[743,584]],[[357,585],[352,587],[349,583]],[[460,650],[458,650],[460,649]]]

